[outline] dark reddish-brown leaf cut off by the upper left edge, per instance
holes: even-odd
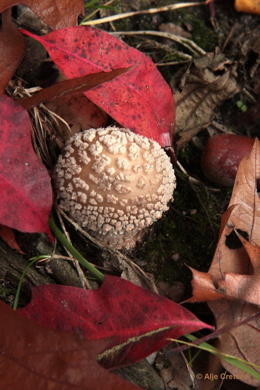
[[[22,60],[26,42],[24,37],[17,31],[11,18],[11,8],[2,12],[2,27],[0,30],[0,94],[10,78],[15,73]]]

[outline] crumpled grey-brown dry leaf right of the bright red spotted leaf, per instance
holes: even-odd
[[[176,130],[181,147],[211,122],[214,109],[239,92],[235,67],[219,50],[207,53],[172,78],[175,92]],[[184,72],[184,73],[183,73]],[[180,92],[181,91],[181,92]]]

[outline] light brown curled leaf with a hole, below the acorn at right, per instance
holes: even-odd
[[[222,215],[220,238],[208,273],[192,270],[193,297],[189,302],[241,299],[260,305],[260,198],[256,179],[260,177],[260,142],[240,162],[227,211]],[[226,239],[234,230],[246,232],[249,241],[231,249]]]

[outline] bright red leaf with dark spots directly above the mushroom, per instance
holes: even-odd
[[[134,66],[122,76],[85,93],[111,117],[135,133],[171,145],[175,126],[171,88],[155,64],[110,34],[92,27],[69,27],[35,36],[67,78]]]

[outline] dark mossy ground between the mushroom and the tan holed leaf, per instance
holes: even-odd
[[[193,167],[192,175],[202,178],[200,152],[192,144],[179,151],[178,159],[184,167]],[[177,280],[185,285],[191,280],[186,265],[207,272],[218,242],[220,216],[230,192],[223,189],[216,199],[215,193],[202,186],[192,188],[179,173],[174,202],[153,225],[142,247],[140,257],[146,262],[146,271],[155,274],[157,281]]]

